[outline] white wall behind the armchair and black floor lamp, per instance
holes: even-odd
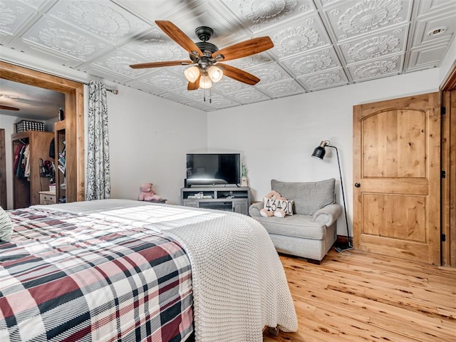
[[[439,75],[438,69],[431,69],[211,112],[208,145],[242,151],[252,194],[261,200],[271,190],[273,178],[339,180],[335,150],[327,148],[323,161],[311,157],[321,140],[331,140],[341,158],[351,226],[353,105],[438,91]],[[342,203],[340,191],[336,196]],[[338,234],[346,235],[343,217],[338,220]]]

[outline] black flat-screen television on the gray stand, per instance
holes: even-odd
[[[187,187],[240,182],[240,153],[187,153]]]

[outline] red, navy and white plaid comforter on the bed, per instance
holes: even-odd
[[[146,227],[19,209],[0,243],[0,341],[185,341],[190,261]]]

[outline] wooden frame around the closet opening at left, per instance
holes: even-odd
[[[1,78],[9,81],[65,94],[66,201],[83,201],[85,197],[83,83],[1,61],[0,73]]]

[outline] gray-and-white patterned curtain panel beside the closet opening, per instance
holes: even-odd
[[[108,105],[103,83],[88,84],[86,200],[110,197]]]

